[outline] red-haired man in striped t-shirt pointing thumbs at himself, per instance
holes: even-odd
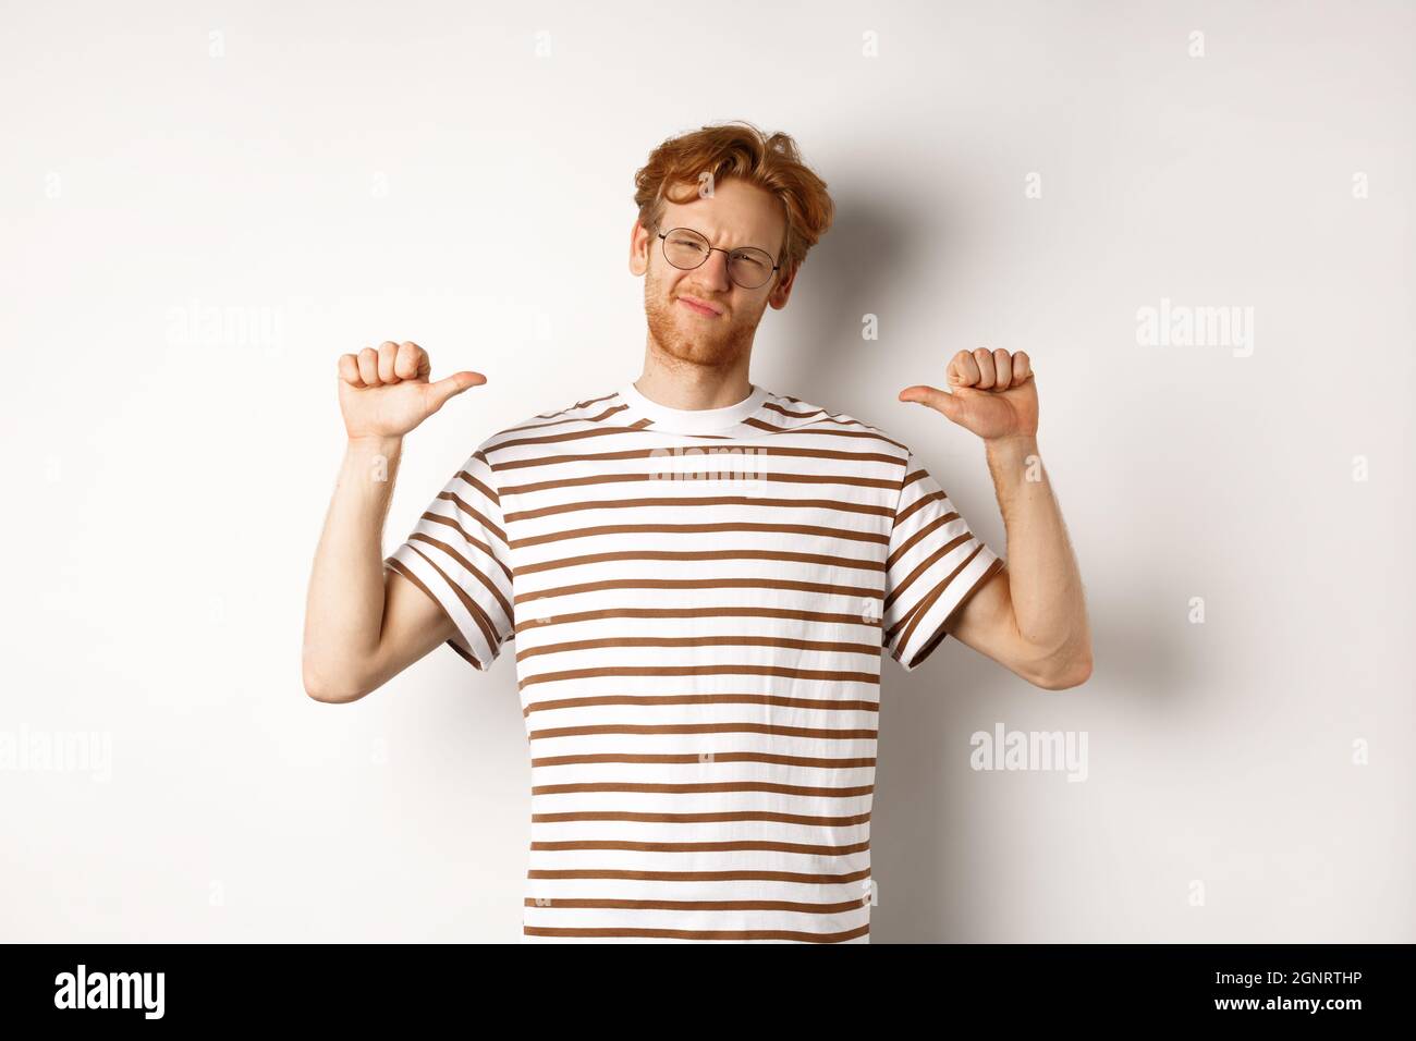
[[[384,559],[402,438],[453,395],[428,353],[338,363],[348,449],[314,559],[304,687],[354,701],[447,643],[515,640],[532,763],[525,940],[869,942],[881,649],[952,635],[1058,690],[1090,674],[1082,584],[1018,351],[959,351],[937,409],[983,439],[1004,567],[910,449],[749,381],[828,228],[826,184],[750,125],[637,177],[644,370],[487,438]]]

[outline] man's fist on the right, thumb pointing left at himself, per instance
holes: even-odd
[[[1024,351],[959,351],[946,372],[953,394],[915,384],[899,399],[929,405],[984,440],[1037,436],[1038,387]]]

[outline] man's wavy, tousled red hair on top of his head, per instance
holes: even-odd
[[[826,181],[801,161],[801,152],[784,133],[762,133],[746,120],[704,126],[670,137],[654,149],[634,173],[634,205],[639,222],[653,231],[664,215],[664,200],[683,205],[698,197],[698,178],[712,174],[716,184],[739,177],[777,197],[787,218],[782,242],[783,272],[806,259],[807,251],[831,227],[835,204]],[[675,197],[678,186],[684,190]]]

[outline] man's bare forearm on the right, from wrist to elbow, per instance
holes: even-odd
[[[1008,533],[1008,591],[1018,636],[1042,659],[1090,660],[1082,576],[1035,436],[986,442]]]

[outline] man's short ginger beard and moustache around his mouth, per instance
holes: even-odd
[[[668,275],[663,276],[664,269]],[[762,299],[755,313],[742,313],[724,302],[719,293],[709,293],[692,283],[692,278],[671,266],[663,256],[650,261],[644,273],[644,319],[649,323],[649,340],[654,353],[677,358],[692,365],[731,365],[752,351],[752,337],[758,331],[762,312],[766,309],[767,286],[759,292]],[[716,319],[704,319],[678,303],[678,295],[697,296],[724,310]],[[738,293],[741,296],[741,293]]]

